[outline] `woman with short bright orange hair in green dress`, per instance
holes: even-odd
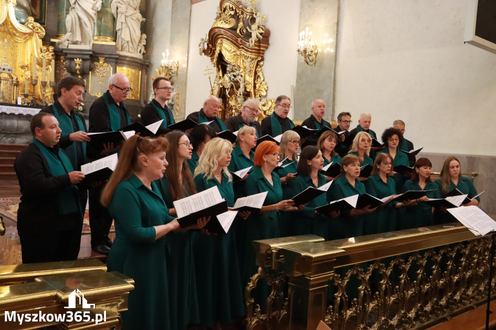
[[[245,252],[242,256],[242,281],[248,283],[251,276],[256,274],[258,266],[255,265],[255,249],[252,241],[268,238],[280,237],[279,218],[281,211],[295,211],[296,207],[292,206],[292,200],[283,200],[281,180],[279,175],[273,172],[279,163],[279,147],[275,142],[264,141],[255,151],[254,169],[248,175],[246,180],[246,194],[254,195],[261,192],[267,192],[263,206],[259,212],[252,212],[248,217],[245,237]],[[303,209],[303,205],[300,210]],[[262,303],[262,311],[265,310],[265,298],[268,296],[268,286],[266,284],[257,284],[257,288],[252,292],[256,297],[260,293],[259,299],[255,298],[257,303]],[[262,292],[265,291],[265,292]],[[253,296],[253,295],[252,295]]]

